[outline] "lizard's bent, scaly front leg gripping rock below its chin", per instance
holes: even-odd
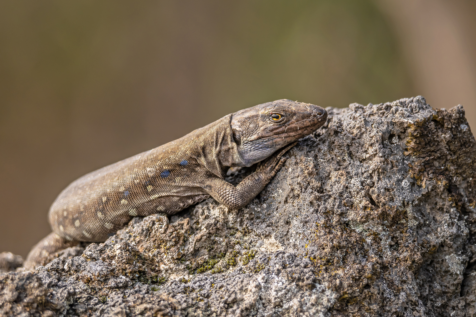
[[[251,202],[278,173],[287,160],[286,157],[282,156],[294,145],[296,145],[296,142],[286,146],[278,154],[271,156],[267,160],[259,162],[256,171],[249,174],[236,187],[223,179],[211,178],[204,186],[204,189],[216,201],[228,208],[242,208]]]

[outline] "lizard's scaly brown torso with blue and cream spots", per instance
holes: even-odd
[[[50,208],[53,231],[66,240],[104,241],[134,216],[173,214],[208,198],[207,175],[223,178],[223,163],[240,161],[230,116],[69,184]]]

